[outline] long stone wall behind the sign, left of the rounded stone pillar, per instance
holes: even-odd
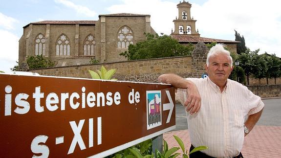
[[[163,73],[176,73],[190,77],[191,57],[169,57],[149,60],[136,60],[94,65],[80,65],[60,68],[43,68],[30,70],[41,75],[90,78],[88,70],[117,69],[114,78],[122,81],[157,82],[157,77]]]

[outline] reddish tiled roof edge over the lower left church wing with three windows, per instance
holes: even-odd
[[[97,21],[40,21],[29,24],[96,24]],[[23,26],[27,27],[29,24]]]

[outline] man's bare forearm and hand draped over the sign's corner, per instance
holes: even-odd
[[[175,88],[186,89],[187,90],[187,100],[184,103],[187,111],[190,111],[191,114],[197,113],[201,107],[201,96],[196,85],[175,74],[162,74],[158,77],[158,82],[167,83],[173,85]]]

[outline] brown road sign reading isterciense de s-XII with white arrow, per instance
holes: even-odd
[[[175,128],[171,85],[0,74],[0,157],[105,157]]]

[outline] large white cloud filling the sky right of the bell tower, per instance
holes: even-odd
[[[260,53],[281,57],[280,4],[275,0],[208,0],[193,6],[192,13],[203,37],[235,40],[235,29],[251,50],[260,48]]]

